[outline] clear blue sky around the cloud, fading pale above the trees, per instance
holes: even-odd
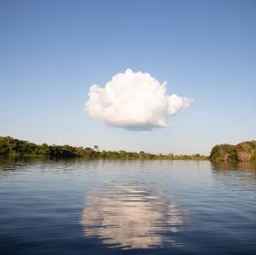
[[[209,154],[256,139],[256,1],[0,1],[0,135],[34,143]],[[84,110],[125,69],[194,98],[167,128]]]

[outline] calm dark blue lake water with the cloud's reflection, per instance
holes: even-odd
[[[256,165],[0,158],[0,254],[256,254]]]

